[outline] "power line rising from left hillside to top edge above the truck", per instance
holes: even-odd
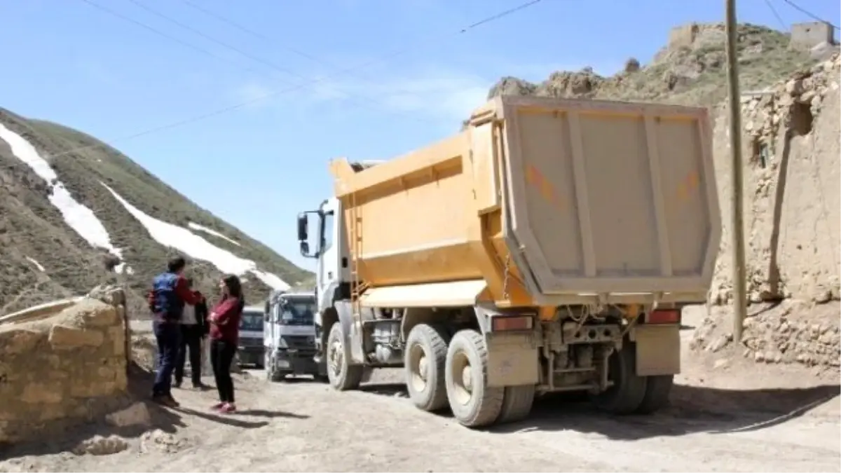
[[[86,3],[89,3],[89,0],[82,0],[82,1],[86,2]],[[526,3],[521,3],[514,8],[508,8],[508,9],[506,9],[506,10],[500,12],[500,13],[495,13],[494,15],[489,16],[485,19],[481,19],[481,20],[477,21],[476,23],[469,24],[468,26],[466,26],[462,29],[459,29],[455,33],[449,33],[447,35],[442,35],[440,38],[438,36],[430,37],[427,40],[423,41],[423,44],[426,44],[428,40],[443,40],[443,39],[447,39],[447,38],[452,37],[452,36],[464,35],[464,34],[468,33],[470,30],[478,28],[479,26],[481,26],[483,24],[488,24],[492,21],[496,21],[498,19],[503,19],[510,14],[520,12],[521,10],[532,7],[534,5],[537,5],[537,3],[541,3],[541,2],[542,2],[542,0],[531,0],[531,1],[526,2]],[[379,56],[378,58],[374,58],[370,61],[365,61],[365,62],[362,62],[361,64],[357,64],[357,66],[347,67],[347,68],[342,69],[341,71],[338,71],[334,74],[330,74],[330,75],[327,75],[325,77],[315,79],[315,80],[309,82],[309,85],[312,85],[313,83],[323,82],[323,81],[325,81],[325,80],[327,80],[331,77],[336,77],[336,76],[339,76],[339,75],[344,74],[346,72],[357,71],[357,70],[362,69],[364,67],[371,66],[372,64],[376,64],[379,61],[384,61],[384,60],[389,59],[391,57],[399,56],[400,54],[405,54],[406,52],[408,52],[410,50],[413,50],[414,47],[419,45],[419,44],[421,44],[421,40],[414,41],[414,42],[410,43],[409,45],[406,45],[402,48],[391,50],[390,52],[385,53],[382,56]],[[237,109],[241,109],[241,108],[246,107],[246,106],[251,105],[251,104],[256,104],[257,102],[262,102],[262,100],[265,100],[267,98],[276,97],[276,96],[282,95],[284,93],[294,92],[296,90],[299,90],[301,88],[306,87],[307,85],[308,84],[304,83],[304,84],[296,85],[292,88],[285,88],[285,89],[281,89],[281,90],[272,91],[270,93],[265,93],[265,94],[263,94],[259,97],[251,98],[251,99],[246,100],[244,102],[240,102],[239,104],[233,104],[233,105],[229,105],[229,106],[227,106],[225,108],[222,108],[222,109],[216,109],[214,111],[207,112],[207,113],[204,113],[204,114],[194,115],[193,117],[183,119],[183,120],[178,120],[176,122],[172,122],[172,123],[169,123],[167,125],[156,126],[154,128],[151,128],[151,129],[148,129],[148,130],[143,130],[143,131],[134,133],[134,134],[129,135],[129,136],[123,136],[122,138],[117,138],[115,140],[112,140],[112,142],[113,141],[133,140],[135,138],[139,138],[140,136],[151,135],[151,134],[157,133],[159,131],[170,130],[172,128],[177,128],[179,126],[189,125],[189,124],[197,122],[197,121],[209,119],[209,118],[217,116],[217,115],[226,114],[226,113],[235,111]],[[96,145],[78,146],[76,148],[71,148],[70,150],[62,151],[60,153],[51,155],[50,157],[65,156],[65,155],[72,154],[72,153],[77,152],[77,151],[84,151],[84,150],[87,150],[87,149],[98,148],[98,147],[102,147],[102,146],[110,146],[110,145],[103,142],[102,144],[96,144]]]

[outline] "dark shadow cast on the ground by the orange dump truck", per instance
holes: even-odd
[[[362,385],[360,391],[407,397],[405,385],[399,383]],[[660,412],[648,416],[611,416],[597,411],[586,401],[586,395],[558,394],[537,399],[526,420],[487,430],[490,433],[570,430],[599,433],[617,440],[749,432],[800,417],[836,396],[841,396],[841,385],[753,391],[674,385],[669,407]],[[442,416],[452,414],[445,411]]]

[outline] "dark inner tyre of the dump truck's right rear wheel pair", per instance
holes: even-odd
[[[611,414],[631,414],[643,403],[647,380],[637,376],[637,351],[627,340],[607,361],[607,379],[613,382],[607,391],[595,396],[595,406]]]

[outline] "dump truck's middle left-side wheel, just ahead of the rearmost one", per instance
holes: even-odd
[[[425,323],[415,325],[406,338],[403,357],[406,390],[415,406],[427,412],[446,407],[446,334]]]

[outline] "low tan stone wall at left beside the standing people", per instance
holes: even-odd
[[[127,399],[122,291],[56,307],[0,321],[0,444],[97,419]]]

